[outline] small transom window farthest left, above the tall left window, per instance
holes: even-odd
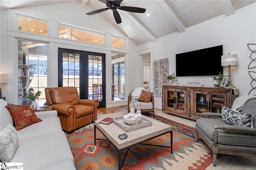
[[[18,16],[18,30],[47,35],[47,22]]]

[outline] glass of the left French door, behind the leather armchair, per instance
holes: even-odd
[[[63,87],[76,87],[80,94],[79,53],[62,52]]]

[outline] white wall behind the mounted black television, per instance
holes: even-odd
[[[237,54],[238,57],[238,65],[231,68],[232,84],[239,89],[239,95],[247,95],[252,89],[250,86],[252,79],[247,69],[251,61],[249,58],[251,51],[247,43],[256,43],[256,3],[240,8],[235,13],[228,17],[218,16],[186,28],[186,32],[176,32],[159,38],[154,43],[140,45],[138,51],[152,47],[151,63],[154,60],[169,58],[170,74],[176,72],[176,54],[223,45],[223,54]],[[227,67],[224,67],[224,75],[228,75]],[[199,81],[201,85],[214,87],[211,76],[178,77],[178,85],[186,84],[187,81]],[[254,87],[256,87],[255,81]],[[157,108],[162,108],[162,98],[155,97],[154,102]]]

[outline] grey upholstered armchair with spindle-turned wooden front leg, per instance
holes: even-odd
[[[217,154],[256,157],[256,96],[237,97],[232,108],[222,113],[197,113],[196,141],[201,137],[212,150],[213,166]]]

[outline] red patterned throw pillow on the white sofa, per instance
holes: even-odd
[[[17,105],[17,106],[5,106],[6,109],[12,115],[16,130],[21,130],[22,128],[33,125],[34,123],[41,122],[34,111],[30,108],[29,104],[26,105]]]

